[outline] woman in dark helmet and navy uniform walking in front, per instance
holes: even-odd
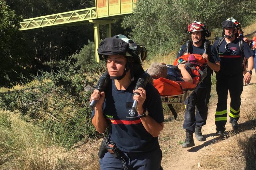
[[[134,48],[135,47],[135,48]],[[134,92],[138,71],[142,69],[141,53],[137,45],[124,35],[105,38],[98,53],[106,60],[110,78],[105,92],[94,90],[91,100],[98,100],[92,123],[99,133],[110,125],[109,141],[122,152],[125,164],[134,170],[158,170],[162,158],[158,135],[163,129],[163,111],[160,94],[152,84]],[[136,69],[134,69],[137,67]],[[133,100],[138,101],[136,112]],[[122,160],[109,152],[100,159],[103,170],[124,169]]]

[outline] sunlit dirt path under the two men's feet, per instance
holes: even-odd
[[[256,76],[255,71],[253,70],[253,76],[252,81],[249,85],[244,86],[242,95],[241,95],[241,109],[246,106],[250,102],[254,102],[255,99],[255,84],[256,84]],[[254,89],[254,90],[253,90]],[[160,144],[163,150],[163,160],[162,160],[162,166],[165,170],[189,170],[189,169],[203,169],[201,167],[201,163],[199,162],[200,157],[202,155],[210,155],[211,151],[214,150],[214,146],[216,141],[219,141],[219,137],[216,136],[215,132],[215,109],[216,109],[216,103],[217,103],[217,94],[216,90],[212,89],[211,93],[211,100],[209,103],[209,112],[208,112],[208,119],[206,125],[202,128],[202,134],[206,138],[205,141],[197,141],[194,136],[195,146],[191,148],[182,148],[181,145],[177,144],[177,139],[184,141],[185,139],[185,132],[182,130],[182,121],[178,122],[180,125],[176,126],[176,133],[181,133],[180,135],[174,135],[172,137],[169,136],[170,140],[175,140],[171,144],[174,145],[174,147],[170,147],[170,150],[166,151],[167,145],[166,141],[163,141],[161,143],[161,139],[163,136],[160,136]],[[228,108],[230,106],[230,98],[228,98]],[[241,114],[241,117],[239,119],[239,123],[243,122],[244,115]],[[226,124],[226,130],[232,130],[232,126],[228,121]],[[165,130],[170,129],[171,131],[173,129],[173,123],[175,124],[175,121],[170,123],[165,123]],[[174,130],[175,131],[175,130]],[[163,135],[166,135],[168,133],[167,131],[163,132]],[[169,132],[170,133],[170,132]],[[174,132],[175,133],[175,132]],[[172,133],[172,135],[174,134]],[[223,141],[220,141],[223,142]],[[172,151],[171,151],[172,150]]]

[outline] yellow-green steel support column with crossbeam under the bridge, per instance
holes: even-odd
[[[109,27],[106,29],[106,37],[111,37],[111,23],[114,23],[113,20],[89,20],[90,23],[94,24],[94,47],[95,47],[95,60],[100,62],[97,49],[100,44],[100,25],[109,24]]]

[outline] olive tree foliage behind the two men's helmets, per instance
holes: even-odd
[[[220,31],[221,23],[234,17],[243,27],[255,17],[255,1],[250,0],[138,0],[133,15],[126,16],[124,28],[132,28],[130,38],[145,44],[151,56],[178,50],[189,38],[186,32],[194,20]]]

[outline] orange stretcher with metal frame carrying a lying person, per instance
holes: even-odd
[[[193,54],[197,60],[196,63],[185,63],[185,65],[191,67],[191,77],[193,78],[193,83],[184,81],[173,81],[166,78],[159,78],[154,80],[154,87],[159,91],[161,95],[162,103],[166,103],[170,108],[174,118],[177,118],[177,113],[174,110],[172,104],[182,104],[186,98],[196,89],[197,85],[202,82],[202,80],[207,75],[207,60],[204,60],[201,55]],[[183,61],[188,60],[188,55],[183,55],[180,58]],[[174,66],[177,65],[177,58],[173,63]]]

